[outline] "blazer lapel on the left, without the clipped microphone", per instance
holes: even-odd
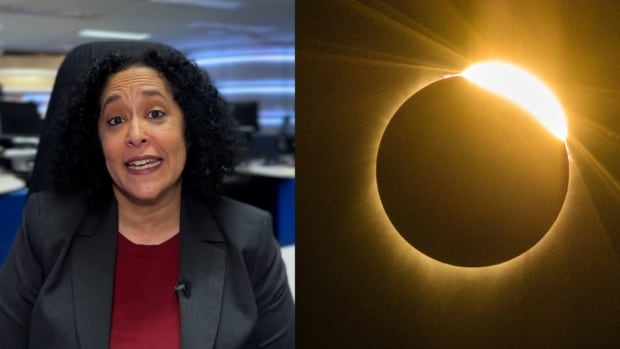
[[[117,231],[118,209],[110,200],[107,208],[87,212],[73,241],[75,320],[82,348],[109,347]]]

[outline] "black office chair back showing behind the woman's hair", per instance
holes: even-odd
[[[70,99],[75,77],[88,70],[93,59],[103,57],[106,54],[112,52],[127,54],[164,46],[153,42],[102,41],[82,44],[67,54],[58,69],[52,88],[37,147],[34,168],[28,184],[28,194],[52,187],[49,162],[58,135],[53,132],[50,125],[64,109],[64,104]]]

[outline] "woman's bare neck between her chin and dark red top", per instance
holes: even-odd
[[[159,245],[179,232],[180,191],[149,203],[132,201],[123,195],[115,196],[118,201],[119,233],[129,241],[140,245]]]

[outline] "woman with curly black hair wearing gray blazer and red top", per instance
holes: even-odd
[[[0,269],[0,348],[292,348],[267,213],[220,197],[234,133],[208,77],[160,48],[76,89]]]

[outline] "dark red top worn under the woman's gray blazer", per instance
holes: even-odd
[[[179,234],[136,245],[118,234],[110,349],[180,347]]]

